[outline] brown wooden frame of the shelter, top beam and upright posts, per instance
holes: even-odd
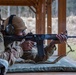
[[[36,13],[36,33],[45,34],[45,16],[47,14],[47,33],[51,34],[51,31],[52,31],[51,7],[52,7],[53,1],[54,0],[0,0],[0,5],[29,6],[29,7],[33,6],[36,9],[36,12],[35,12]],[[64,32],[65,30],[66,30],[66,0],[58,0],[58,33]],[[58,55],[59,56],[66,55],[65,44],[58,45]]]

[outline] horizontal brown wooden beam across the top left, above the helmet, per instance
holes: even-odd
[[[30,0],[0,0],[0,5],[10,6],[33,6]]]

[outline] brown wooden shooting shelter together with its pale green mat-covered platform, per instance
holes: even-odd
[[[53,30],[52,29],[52,3],[54,1],[55,0],[0,0],[0,5],[1,6],[28,6],[36,15],[36,24],[35,24],[36,34],[52,34],[52,30]],[[46,21],[45,17],[47,19],[47,24],[45,22]],[[65,31],[66,31],[66,0],[58,0],[57,32],[59,34]],[[49,43],[50,43],[50,40],[47,41],[47,44]],[[76,72],[76,63],[72,60],[68,60],[66,58],[66,55],[67,55],[66,43],[59,44],[57,55],[51,56],[48,60],[49,63],[41,63],[41,64],[16,63],[13,66],[9,67],[7,75],[15,75],[15,73],[18,73],[18,72],[21,72],[20,75],[23,75],[23,73],[26,74],[27,72],[28,72],[28,75],[29,75],[29,72],[31,73],[45,72],[45,74],[47,72],[47,75],[49,74],[52,75],[51,72],[60,72],[60,71]],[[38,73],[34,73],[34,74],[36,75]],[[69,73],[69,75],[73,75],[73,74]]]

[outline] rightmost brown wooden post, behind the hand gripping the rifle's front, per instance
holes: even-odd
[[[58,0],[58,33],[66,31],[66,0]],[[66,55],[66,44],[58,45],[58,55]]]

